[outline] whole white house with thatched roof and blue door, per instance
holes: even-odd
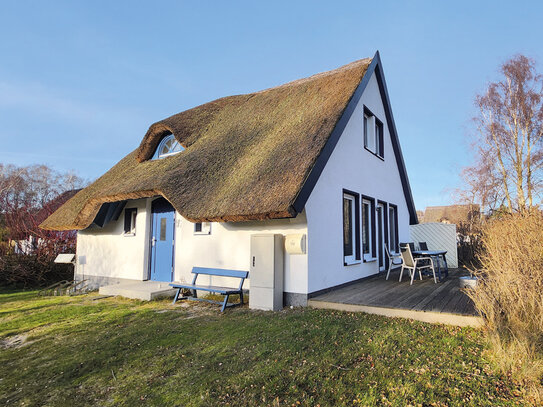
[[[76,278],[96,287],[249,270],[252,235],[302,236],[282,267],[286,304],[305,304],[385,270],[415,223],[376,53],[154,123],[41,227],[79,231]]]

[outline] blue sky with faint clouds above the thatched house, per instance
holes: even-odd
[[[0,162],[94,179],[157,120],[379,50],[415,204],[448,204],[475,94],[516,53],[543,62],[542,19],[541,2],[3,1]]]

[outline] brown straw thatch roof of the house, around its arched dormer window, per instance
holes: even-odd
[[[162,195],[194,221],[296,216],[292,207],[371,59],[153,124],[135,151],[52,214],[45,229],[84,229],[104,202]],[[173,133],[186,148],[150,160]]]

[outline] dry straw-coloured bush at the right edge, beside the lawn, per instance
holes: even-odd
[[[469,295],[484,318],[491,354],[502,371],[537,389],[543,377],[543,215],[490,221],[482,245],[479,282]]]

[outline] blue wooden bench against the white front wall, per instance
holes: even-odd
[[[212,268],[205,268],[205,267],[193,267],[192,268],[192,274],[194,274],[194,278],[192,279],[192,284],[184,284],[184,283],[171,283],[170,285],[174,288],[177,288],[177,292],[175,294],[175,297],[173,299],[173,303],[175,304],[177,300],[195,300],[195,301],[206,301],[211,302],[213,304],[222,304],[221,312],[224,312],[226,307],[234,307],[236,305],[243,305],[243,282],[245,279],[249,276],[248,271],[240,271],[240,270],[223,270],[223,269],[212,269]],[[196,279],[200,274],[207,275],[207,276],[220,276],[220,277],[236,277],[241,279],[239,283],[238,288],[232,288],[232,287],[219,287],[219,286],[213,286],[213,285],[197,285]],[[192,296],[182,296],[179,297],[181,294],[182,289],[188,289],[192,291]],[[219,293],[224,295],[224,301],[213,301],[208,300],[206,298],[198,298],[198,294],[196,293],[197,290],[200,291],[209,291],[211,293]],[[233,294],[239,294],[239,303],[237,304],[228,304],[228,297]]]

